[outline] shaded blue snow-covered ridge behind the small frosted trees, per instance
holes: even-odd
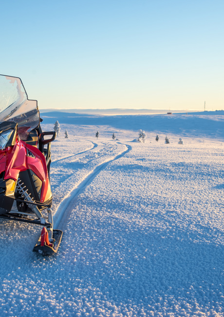
[[[215,112],[217,113],[217,112]],[[137,131],[142,129],[147,135],[154,134],[172,134],[179,138],[224,138],[224,116],[208,115],[208,112],[202,114],[173,114],[173,115],[126,115],[126,116],[91,116],[78,115],[63,112],[50,112],[41,114],[44,124],[50,124],[53,127],[56,120],[60,124],[75,125],[80,135],[88,135],[88,130],[100,128],[101,135],[110,137],[110,134],[131,135],[128,131]],[[75,128],[76,128],[75,127]],[[52,129],[52,128],[50,128]],[[124,134],[124,130],[126,131]],[[122,131],[122,133],[120,133]]]

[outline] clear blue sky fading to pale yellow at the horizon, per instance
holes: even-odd
[[[224,109],[223,0],[9,0],[0,74],[39,108]]]

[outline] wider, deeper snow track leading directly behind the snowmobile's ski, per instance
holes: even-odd
[[[118,142],[119,144],[123,144]],[[101,164],[99,164],[98,166],[96,166],[92,171],[90,171],[84,179],[82,179],[78,184],[76,184],[74,186],[74,188],[72,189],[72,191],[70,191],[65,198],[63,199],[63,201],[60,203],[60,205],[57,208],[57,211],[54,215],[54,228],[58,228],[62,218],[64,217],[64,215],[66,214],[66,211],[69,207],[69,205],[72,203],[72,201],[81,193],[85,190],[86,186],[88,186],[93,179],[100,173],[100,171],[105,168],[109,163],[111,163],[114,160],[117,160],[118,158],[122,158],[125,154],[127,154],[128,152],[131,151],[131,145],[128,144],[123,144],[127,147],[127,150],[119,153],[118,155],[116,155],[114,158],[109,159],[109,160],[105,160],[104,162],[102,162]]]

